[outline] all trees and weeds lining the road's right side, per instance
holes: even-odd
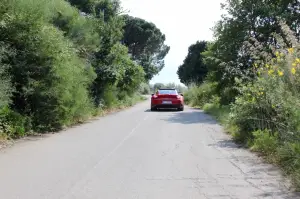
[[[185,100],[291,177],[300,189],[300,2],[231,1],[214,41],[178,69]]]

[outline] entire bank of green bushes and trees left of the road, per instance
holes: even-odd
[[[118,0],[0,0],[0,139],[142,100],[170,47]]]

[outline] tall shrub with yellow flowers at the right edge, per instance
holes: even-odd
[[[300,59],[290,48],[276,52],[276,58],[254,65],[258,78],[243,85],[232,106],[231,120],[240,136],[253,138],[252,132],[269,129],[279,132],[281,140],[300,138]]]

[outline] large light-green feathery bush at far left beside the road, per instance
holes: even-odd
[[[17,85],[13,108],[31,116],[37,130],[55,130],[88,114],[93,74],[62,32],[22,13],[6,23],[1,36],[16,51],[10,58],[12,83]]]

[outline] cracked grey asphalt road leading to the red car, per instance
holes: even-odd
[[[149,101],[0,151],[1,199],[300,198],[199,110]]]

